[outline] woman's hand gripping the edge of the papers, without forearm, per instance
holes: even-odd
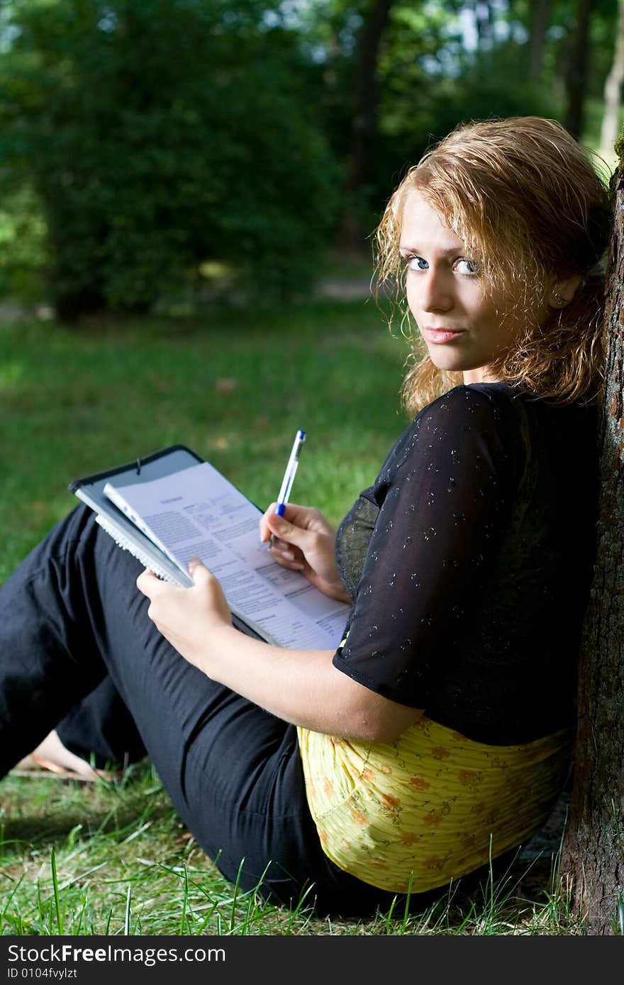
[[[205,564],[192,558],[188,571],[195,582],[191,588],[162,581],[148,569],[136,584],[150,600],[148,616],[159,632],[185,660],[205,672],[210,633],[232,625],[232,614],[219,581]]]

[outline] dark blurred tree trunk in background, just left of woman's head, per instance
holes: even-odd
[[[371,154],[377,135],[379,101],[377,67],[381,38],[393,2],[394,0],[374,0],[362,27],[346,184],[347,201],[341,230],[342,245],[346,249],[362,249],[366,242],[366,234],[359,228],[354,203],[366,187],[371,173]]]

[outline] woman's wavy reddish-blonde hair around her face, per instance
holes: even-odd
[[[612,222],[608,190],[589,152],[555,120],[539,116],[459,124],[411,167],[376,231],[378,296],[394,287],[401,331],[412,341],[403,403],[414,414],[452,386],[460,372],[419,354],[409,326],[399,238],[405,197],[418,190],[478,263],[484,291],[513,291],[524,308],[545,298],[547,282],[579,274],[573,300],[539,326],[525,319],[518,344],[492,364],[498,379],[551,403],[595,400],[603,374],[601,260]],[[390,316],[390,325],[392,317]]]

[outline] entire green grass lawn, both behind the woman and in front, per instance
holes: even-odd
[[[181,442],[263,506],[304,427],[293,498],[337,522],[406,424],[405,342],[373,301],[76,329],[21,321],[0,325],[0,351],[0,581],[72,508],[72,479]],[[582,933],[552,864],[516,865],[422,912],[319,919],[306,899],[275,908],[223,880],[149,764],[111,783],[9,776],[0,787],[2,935]]]

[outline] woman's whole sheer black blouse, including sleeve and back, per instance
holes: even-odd
[[[477,742],[571,724],[596,503],[594,411],[455,387],[338,528],[354,605],[334,666]]]

